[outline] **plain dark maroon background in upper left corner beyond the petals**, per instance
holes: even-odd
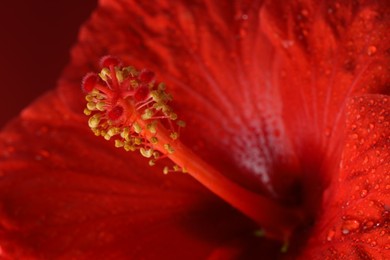
[[[0,127],[54,88],[97,0],[4,1],[0,8]]]

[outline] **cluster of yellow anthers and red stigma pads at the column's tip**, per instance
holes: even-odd
[[[100,66],[99,73],[88,73],[82,81],[92,132],[118,148],[138,151],[150,166],[169,158],[185,123],[170,106],[173,98],[165,84],[156,81],[154,72],[123,66],[113,56],[103,57]],[[185,169],[173,165],[163,171]]]

